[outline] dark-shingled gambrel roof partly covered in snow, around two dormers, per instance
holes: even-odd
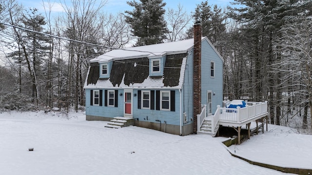
[[[213,47],[207,37],[203,40]],[[102,54],[90,60],[84,88],[182,88],[188,53],[193,47],[194,39],[187,39]],[[165,58],[163,75],[150,76],[150,59],[161,57]],[[100,78],[99,65],[109,62],[113,62],[110,77]]]

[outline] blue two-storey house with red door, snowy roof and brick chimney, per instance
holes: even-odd
[[[136,126],[166,133],[196,133],[197,115],[212,115],[223,104],[224,60],[201,36],[200,23],[194,25],[194,36],[117,49],[90,60],[86,120],[126,117]]]

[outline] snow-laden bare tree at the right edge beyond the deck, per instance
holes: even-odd
[[[281,75],[281,87],[292,87],[292,93],[300,98],[294,105],[303,104],[303,128],[306,128],[308,108],[310,115],[312,112],[311,19],[298,19],[293,23],[287,23],[282,26],[280,32],[282,35],[276,39],[274,45],[275,52],[281,53],[281,61],[274,64],[273,68]]]

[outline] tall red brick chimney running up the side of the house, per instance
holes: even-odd
[[[197,114],[201,112],[201,23],[194,24],[194,133],[197,133]],[[200,126],[198,126],[200,127]]]

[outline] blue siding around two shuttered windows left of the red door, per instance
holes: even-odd
[[[98,90],[98,89],[94,89]],[[123,95],[119,96],[120,93],[123,94],[123,89],[118,89],[118,94],[116,94],[116,97],[118,98],[118,107],[113,106],[104,106],[104,93],[105,89],[99,89],[103,90],[102,94],[102,106],[95,106],[90,105],[90,91],[91,89],[86,89],[86,115],[93,115],[93,116],[100,116],[100,117],[123,117]],[[113,90],[113,89],[112,89]],[[115,89],[114,89],[115,90]]]

